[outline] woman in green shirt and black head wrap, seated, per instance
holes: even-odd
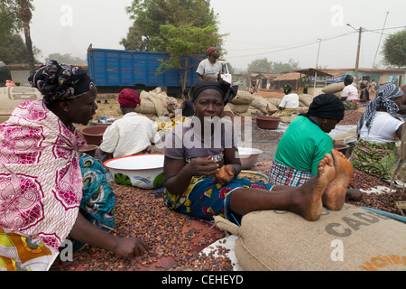
[[[282,135],[270,170],[273,184],[301,186],[318,172],[318,163],[334,148],[330,133],[344,118],[342,101],[333,94],[313,98],[307,113],[295,117]],[[347,184],[348,185],[348,184]],[[348,198],[359,191],[348,191]]]

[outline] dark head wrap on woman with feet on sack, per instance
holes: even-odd
[[[191,89],[189,90],[189,99],[192,101],[195,101],[196,98],[198,98],[198,95],[200,92],[206,90],[206,89],[215,89],[218,92],[221,93],[223,100],[224,100],[224,105],[228,103],[231,99],[235,98],[237,92],[238,92],[238,86],[231,86],[228,82],[222,81],[213,81],[213,80],[205,80],[205,81],[199,81],[196,83]]]

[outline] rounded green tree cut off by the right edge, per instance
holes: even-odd
[[[381,53],[385,65],[406,67],[406,29],[388,36],[383,43]]]

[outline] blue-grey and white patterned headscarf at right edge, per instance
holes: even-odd
[[[384,84],[376,90],[376,96],[371,100],[368,107],[365,108],[363,116],[359,119],[358,126],[356,127],[357,134],[364,124],[369,132],[371,124],[374,122],[376,111],[379,107],[383,107],[383,109],[391,114],[392,117],[402,120],[401,117],[398,116],[399,107],[392,100],[393,98],[398,98],[402,95],[403,91],[392,83]]]

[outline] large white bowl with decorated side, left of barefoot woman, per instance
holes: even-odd
[[[150,190],[163,186],[163,159],[163,154],[139,154],[111,159],[105,165],[115,183]]]

